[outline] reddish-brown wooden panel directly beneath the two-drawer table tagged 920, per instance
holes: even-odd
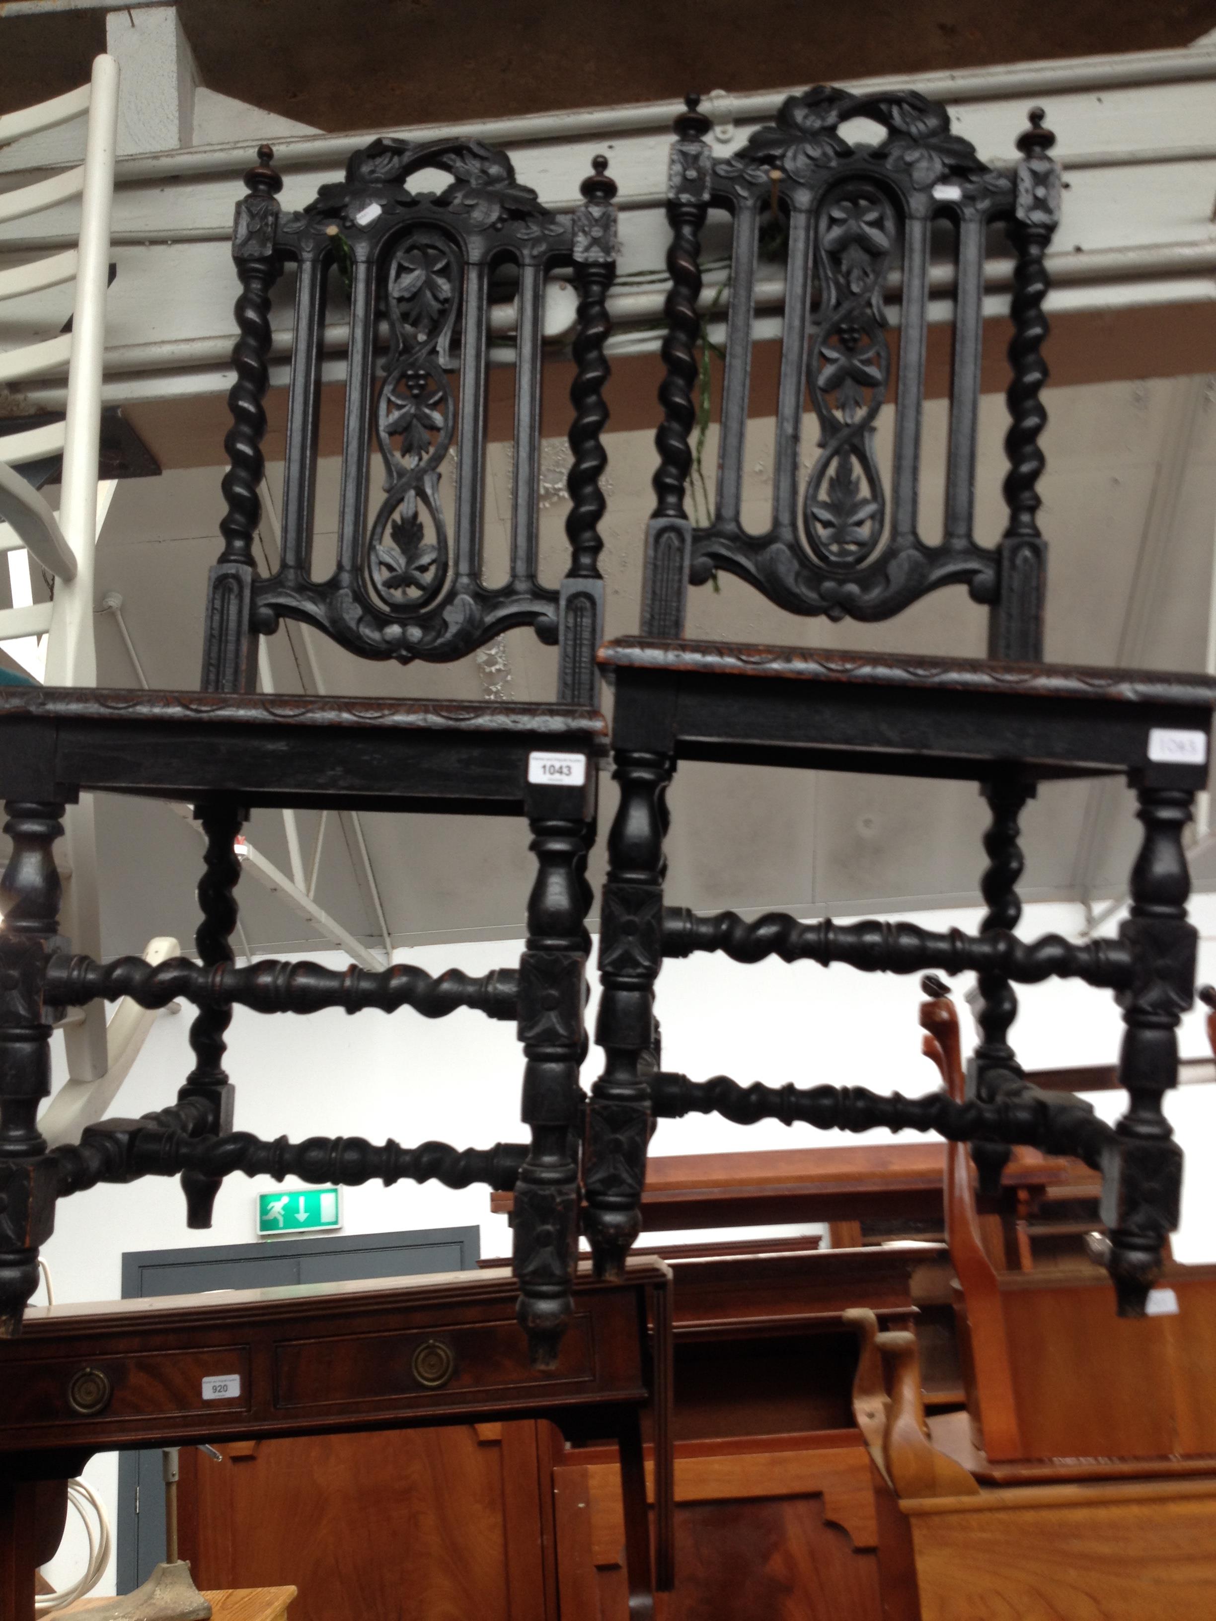
[[[182,1454],[199,1587],[298,1587],[290,1621],[542,1621],[537,1425]],[[237,1454],[237,1456],[233,1456]]]

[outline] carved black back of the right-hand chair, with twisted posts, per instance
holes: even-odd
[[[880,143],[845,126],[879,125]],[[1043,657],[1044,541],[1038,528],[1038,438],[1046,417],[1041,344],[1047,326],[1043,256],[1059,214],[1054,136],[1034,109],[1008,175],[987,167],[950,133],[945,107],[903,91],[854,96],[816,86],[790,96],[777,123],[736,154],[713,159],[709,120],[689,110],[671,148],[668,258],[673,290],[660,394],[658,504],[650,525],[642,631],[678,637],[686,585],[725,569],[796,614],[887,619],[940,585],[965,584],[991,608],[994,658]],[[721,433],[713,514],[692,527],[684,507],[696,412],[700,230],[709,207],[734,220],[721,384]],[[773,447],[772,520],[743,525],[743,473],[757,271],[777,217],[786,284]],[[1015,253],[1012,426],[1005,478],[1008,525],[997,546],[974,538],[976,428],[987,229],[1008,224]],[[931,264],[934,227],[953,227],[952,263]],[[939,232],[940,233],[940,232]],[[940,272],[953,280],[945,520],[939,540],[919,528],[929,295]],[[890,303],[898,302],[898,357]],[[882,405],[895,391],[890,490],[876,454]],[[801,477],[803,415],[814,410],[819,444]]]

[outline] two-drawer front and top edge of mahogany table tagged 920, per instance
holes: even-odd
[[[637,1311],[666,1279],[662,1261],[645,1258],[623,1285],[597,1284],[584,1268],[551,1371],[529,1365],[506,1269],[34,1308],[21,1337],[0,1342],[3,1448],[99,1451],[639,1407],[649,1375]],[[412,1371],[428,1341],[454,1354],[441,1389]],[[73,1412],[68,1397],[84,1368],[112,1386],[94,1415]],[[224,1375],[240,1376],[240,1396],[204,1401],[203,1379]]]

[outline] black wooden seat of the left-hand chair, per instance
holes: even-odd
[[[598,710],[572,704],[6,689],[0,796],[520,815],[529,755],[590,765],[606,731]]]

